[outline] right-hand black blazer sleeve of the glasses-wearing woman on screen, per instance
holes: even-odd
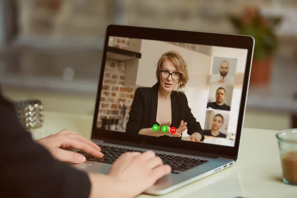
[[[201,141],[203,141],[204,140],[203,130],[201,128],[200,123],[196,120],[193,113],[191,112],[191,108],[189,107],[188,99],[186,95],[184,95],[184,101],[185,101],[184,107],[185,107],[185,115],[186,115],[185,121],[187,122],[187,127],[188,127],[187,133],[189,135],[192,135],[193,133],[197,132],[201,134],[202,136]]]

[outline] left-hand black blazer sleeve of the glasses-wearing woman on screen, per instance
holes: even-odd
[[[136,89],[134,99],[132,101],[131,110],[129,112],[129,120],[126,125],[126,132],[137,135],[143,126],[144,102],[141,97],[139,88]]]

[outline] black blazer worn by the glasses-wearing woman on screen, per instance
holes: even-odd
[[[133,133],[137,135],[141,129],[152,128],[154,124],[161,124],[156,122],[157,104],[158,104],[158,89],[159,83],[156,83],[151,88],[137,88],[134,99],[129,112],[129,120],[127,122],[126,133]],[[172,121],[170,127],[178,128],[180,122],[184,120],[187,122],[188,134],[192,135],[195,132],[201,134],[204,140],[203,130],[200,123],[191,112],[188,105],[188,99],[184,93],[171,93],[171,112]],[[160,136],[162,138],[181,139],[179,137]],[[159,138],[160,138],[159,137]]]

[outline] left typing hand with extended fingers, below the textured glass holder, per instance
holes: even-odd
[[[99,148],[95,143],[66,129],[58,132],[57,134],[39,139],[36,142],[47,148],[50,154],[60,161],[71,163],[83,163],[86,161],[86,157],[84,155],[64,149],[81,149],[95,157],[103,157],[103,154],[100,152],[101,148]]]

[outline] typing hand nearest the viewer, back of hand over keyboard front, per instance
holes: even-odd
[[[171,172],[162,159],[151,150],[144,153],[123,153],[111,166],[108,176],[115,179],[122,198],[134,198],[151,187],[159,178]]]

